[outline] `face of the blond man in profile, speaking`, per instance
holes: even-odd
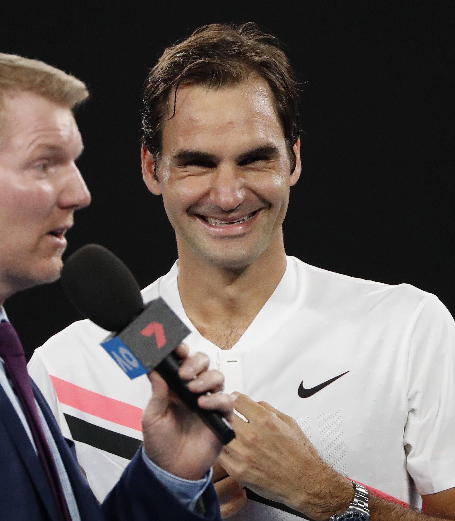
[[[71,110],[30,92],[5,100],[0,146],[0,297],[58,278],[74,210],[90,203]],[[1,299],[0,299],[1,300]]]

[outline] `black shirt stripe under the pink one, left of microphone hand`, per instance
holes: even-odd
[[[127,458],[127,460],[131,460],[141,446],[142,441],[136,438],[98,427],[69,414],[64,414],[64,416],[74,441],[81,441],[96,449]]]

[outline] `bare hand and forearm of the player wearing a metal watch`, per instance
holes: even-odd
[[[235,408],[248,422],[234,418],[236,439],[220,456],[226,475],[316,521],[346,512],[354,498],[351,480],[321,459],[296,421],[265,402],[235,394]],[[371,521],[455,519],[455,489],[423,496],[424,513],[370,498]]]

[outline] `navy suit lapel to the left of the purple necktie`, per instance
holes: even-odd
[[[33,445],[24,429],[19,416],[9,401],[3,387],[0,386],[0,422],[8,432],[17,453],[26,467],[30,479],[40,495],[50,519],[58,520],[57,506],[52,497],[44,469],[36,455]]]

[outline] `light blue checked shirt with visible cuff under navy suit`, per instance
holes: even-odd
[[[6,316],[5,309],[3,307],[0,307],[0,321],[2,320],[8,320],[8,317]],[[22,405],[19,402],[16,393],[11,387],[11,382],[8,380],[6,376],[2,357],[0,357],[0,385],[2,386],[6,395],[8,396],[12,406],[15,408],[15,411],[19,416],[22,425],[24,426],[24,429],[27,432],[27,435],[30,439],[30,442],[33,445],[33,448],[35,449],[35,452],[37,452],[35,442],[30,431],[30,427],[22,411]],[[61,461],[61,456],[58,452],[57,445],[55,444],[52,434],[50,433],[49,427],[43,416],[41,408],[37,403],[36,407],[41,419],[41,424],[44,430],[44,435],[46,436],[47,443],[49,445],[50,452],[52,452],[52,455],[54,457],[54,462],[57,468],[58,476],[60,478],[61,487],[65,494],[65,499],[68,504],[68,510],[71,514],[71,519],[72,521],[81,521],[78,504],[76,503],[76,500],[74,498],[71,483],[68,478],[68,474],[65,470],[65,466]],[[192,481],[188,479],[179,478],[178,476],[174,476],[173,474],[166,472],[166,470],[163,470],[162,468],[158,467],[158,465],[155,465],[155,463],[151,461],[150,458],[145,454],[144,448],[142,448],[142,458],[147,467],[150,469],[150,472],[152,472],[155,475],[155,477],[162,483],[162,485],[164,485],[168,490],[170,490],[174,494],[176,499],[178,499],[183,506],[187,507],[191,511],[194,511],[196,503],[198,502],[199,498],[204,493],[205,489],[210,483],[210,480],[212,479],[213,470],[210,469],[209,472],[207,472],[207,474],[202,479]]]

